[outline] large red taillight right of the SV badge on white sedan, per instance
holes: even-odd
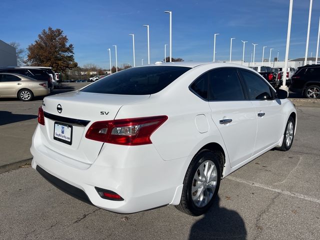
[[[167,116],[127,118],[92,123],[85,137],[88,139],[120,144],[150,144],[151,134],[168,119]]]

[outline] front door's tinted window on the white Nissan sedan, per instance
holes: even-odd
[[[243,81],[247,86],[248,97],[251,100],[273,99],[269,85],[253,72],[240,70]]]

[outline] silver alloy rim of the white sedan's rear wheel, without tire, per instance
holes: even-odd
[[[191,195],[197,207],[205,206],[212,198],[217,183],[217,169],[213,161],[206,160],[195,171]]]

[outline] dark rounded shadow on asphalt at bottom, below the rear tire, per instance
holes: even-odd
[[[233,210],[219,206],[217,195],[213,205],[204,217],[195,222],[190,230],[189,240],[194,239],[246,239],[242,217]]]

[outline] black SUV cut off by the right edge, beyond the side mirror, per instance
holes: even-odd
[[[320,98],[320,65],[298,67],[291,77],[289,90],[307,98]]]

